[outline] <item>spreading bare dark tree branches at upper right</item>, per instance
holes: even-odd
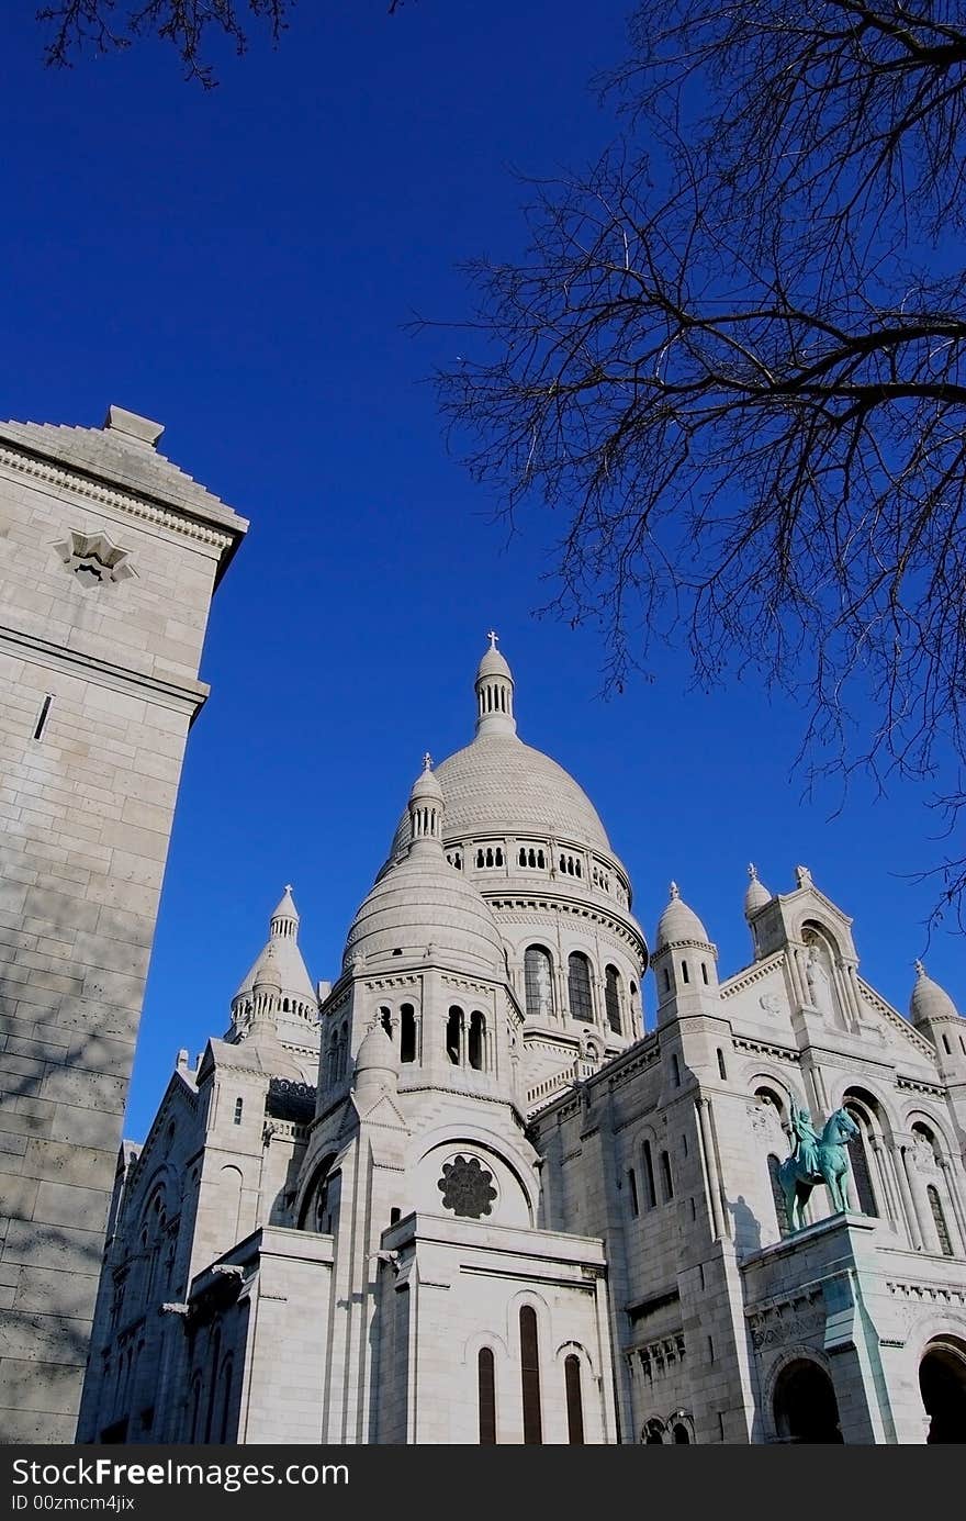
[[[469,266],[450,427],[507,511],[560,514],[552,605],[601,621],[613,683],[685,639],[701,681],[803,697],[812,779],[937,777],[966,762],[966,6],[671,0],[631,44],[624,138],[531,186],[520,265]],[[966,853],[940,870],[960,908]]]

